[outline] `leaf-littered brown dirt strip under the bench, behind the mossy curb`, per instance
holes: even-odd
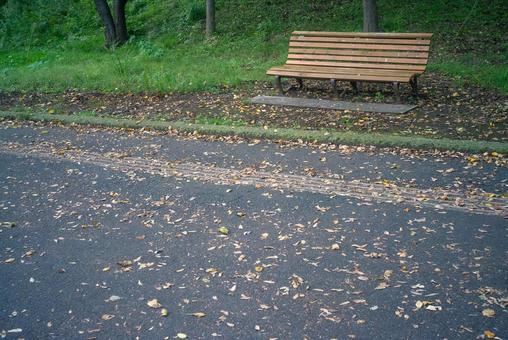
[[[239,87],[222,87],[213,92],[132,93],[2,93],[0,110],[129,118],[185,120],[208,124],[278,126],[337,131],[389,132],[403,135],[454,139],[508,140],[508,95],[456,81],[436,73],[420,79],[420,96],[402,86],[400,102],[418,105],[406,114],[383,114],[328,109],[266,106],[249,103],[256,95],[275,95],[269,82],[249,82]],[[288,84],[286,84],[288,86]],[[340,83],[337,95],[326,81],[305,81],[303,90],[290,90],[293,97],[323,98],[358,102],[393,103],[389,85],[364,84],[354,94],[349,83]]]

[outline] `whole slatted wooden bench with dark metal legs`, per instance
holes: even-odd
[[[398,97],[400,83],[409,83],[418,95],[417,78],[427,66],[432,33],[355,33],[295,31],[286,64],[269,69],[284,93],[281,78],[392,83]]]

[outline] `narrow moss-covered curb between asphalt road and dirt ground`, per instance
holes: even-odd
[[[407,147],[413,149],[440,149],[466,152],[496,151],[508,153],[508,143],[472,141],[456,139],[432,139],[417,136],[398,136],[379,133],[334,132],[324,130],[301,130],[287,128],[264,128],[252,126],[230,126],[193,124],[183,121],[164,122],[158,120],[119,119],[113,117],[94,117],[87,115],[58,115],[45,113],[2,112],[0,119],[32,120],[42,122],[60,122],[64,124],[86,124],[117,128],[149,128],[160,131],[176,129],[181,132],[199,132],[210,135],[237,135],[248,138],[272,140],[303,140],[322,143],[349,145],[376,145],[383,147]]]

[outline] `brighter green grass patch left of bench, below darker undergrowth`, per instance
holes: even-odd
[[[60,50],[0,52],[0,89],[6,91],[173,92],[237,85],[263,79],[267,68],[282,62],[281,46],[260,48],[254,40],[183,44],[151,55],[132,42],[115,51],[83,51],[72,46]],[[156,50],[157,51],[157,50]],[[206,65],[206,66],[205,66]]]

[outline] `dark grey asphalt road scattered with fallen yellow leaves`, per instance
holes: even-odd
[[[0,338],[506,339],[507,175],[0,123]]]

